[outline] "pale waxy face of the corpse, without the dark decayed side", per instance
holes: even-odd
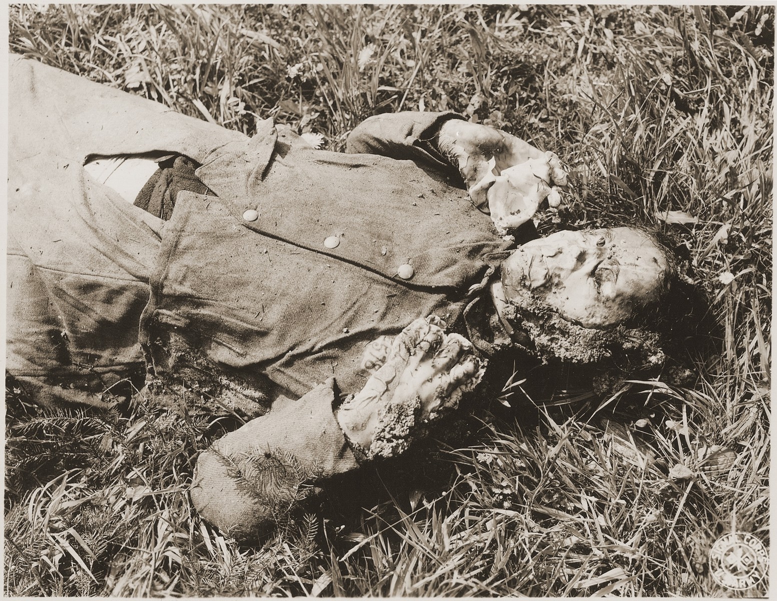
[[[511,302],[534,298],[583,327],[608,327],[656,299],[666,271],[664,253],[637,229],[564,231],[511,254],[502,285]]]

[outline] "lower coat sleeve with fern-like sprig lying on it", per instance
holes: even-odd
[[[249,421],[202,452],[191,498],[223,533],[252,540],[270,532],[323,480],[359,464],[333,413],[334,380]]]

